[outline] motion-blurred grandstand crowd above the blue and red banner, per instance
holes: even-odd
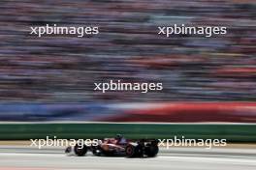
[[[255,1],[1,1],[0,99],[91,102],[256,99]],[[93,38],[29,35],[30,26],[99,25]],[[158,25],[227,26],[228,34],[171,39]],[[95,93],[109,79],[164,90]]]

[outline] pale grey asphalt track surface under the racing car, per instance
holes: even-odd
[[[172,148],[152,158],[66,156],[63,149],[0,146],[0,170],[255,170],[256,149]]]

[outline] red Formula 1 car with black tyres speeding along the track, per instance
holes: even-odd
[[[77,156],[85,156],[90,151],[94,156],[127,156],[127,157],[153,157],[158,154],[158,140],[142,139],[137,141],[127,140],[121,135],[115,138],[99,140],[96,146],[68,147],[66,154],[75,153]]]

